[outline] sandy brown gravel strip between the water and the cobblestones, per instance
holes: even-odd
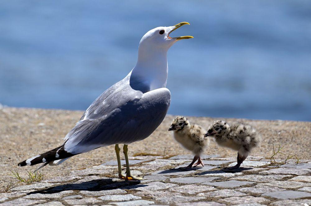
[[[16,169],[21,174],[26,169],[34,170],[35,167],[17,167],[17,163],[37,154],[53,149],[63,143],[63,137],[75,125],[82,111],[44,110],[25,108],[0,109],[0,185],[7,184],[10,176],[7,173]],[[168,115],[157,130],[143,141],[131,144],[129,156],[138,153],[152,153],[162,155],[188,154],[177,144],[172,133],[167,129],[173,116]],[[197,123],[207,128],[216,119],[237,121],[237,119],[188,117],[192,123]],[[295,153],[300,159],[311,159],[310,139],[311,122],[297,121],[266,121],[238,119],[255,127],[262,135],[262,144],[253,150],[252,156],[268,158],[272,153],[272,144],[284,145],[285,154]],[[216,146],[214,141],[206,154],[219,154],[222,157],[236,157],[236,152]],[[72,157],[56,167],[44,167],[45,178],[51,176],[67,175],[74,169],[86,168],[115,159],[114,145],[93,150]]]

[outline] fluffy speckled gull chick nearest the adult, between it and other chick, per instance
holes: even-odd
[[[172,125],[169,127],[169,131],[174,130],[174,138],[185,149],[190,150],[194,154],[193,161],[187,167],[179,167],[178,169],[190,169],[192,166],[204,164],[201,159],[201,154],[205,147],[208,146],[208,139],[204,138],[206,131],[197,124],[190,125],[186,117],[176,117]],[[193,163],[197,163],[193,165]]]

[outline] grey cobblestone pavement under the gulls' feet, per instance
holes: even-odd
[[[0,206],[311,205],[311,160],[267,166],[267,160],[248,157],[239,169],[226,172],[221,168],[234,165],[233,158],[205,155],[205,167],[172,169],[187,165],[192,158],[131,157],[132,174],[144,176],[142,181],[117,179],[117,162],[110,161],[12,188],[0,193]]]

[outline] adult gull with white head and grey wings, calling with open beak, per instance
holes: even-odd
[[[68,158],[99,147],[115,144],[119,177],[141,180],[132,176],[128,164],[128,144],[147,138],[163,121],[171,101],[165,88],[167,81],[167,51],[180,39],[192,36],[170,37],[169,34],[189,24],[157,27],[148,31],[138,47],[138,60],[130,73],[104,91],[82,115],[76,126],[65,136],[65,142],[48,152],[18,163],[18,166],[43,163],[59,165]],[[126,176],[122,174],[120,148],[126,162]]]

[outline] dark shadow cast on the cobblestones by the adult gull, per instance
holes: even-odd
[[[28,193],[30,194],[53,194],[65,190],[88,190],[88,191],[102,191],[102,190],[112,190],[122,187],[123,189],[130,189],[133,185],[138,185],[140,181],[113,181],[113,178],[105,178],[98,180],[91,180],[81,183],[68,183],[64,185],[57,185],[43,190],[37,190]],[[143,185],[147,186],[147,185]]]

